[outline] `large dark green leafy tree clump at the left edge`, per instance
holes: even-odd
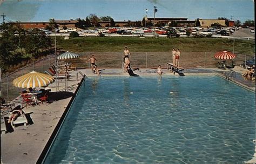
[[[3,23],[0,31],[0,66],[3,72],[8,71],[11,65],[37,58],[39,52],[51,46],[51,39],[45,32],[38,29],[25,30],[18,22]]]

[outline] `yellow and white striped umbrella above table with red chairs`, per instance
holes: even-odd
[[[35,88],[47,86],[53,83],[54,78],[48,74],[32,71],[12,81],[12,84],[20,88]]]

